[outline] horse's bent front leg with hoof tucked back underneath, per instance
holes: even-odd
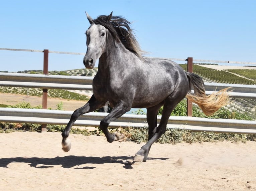
[[[115,107],[113,107],[112,111],[100,122],[100,129],[105,134],[108,142],[117,141],[123,138],[121,133],[115,132],[111,134],[108,131],[108,126],[111,121],[116,120],[117,118],[121,117],[124,113],[129,111],[131,107],[129,104],[125,104],[123,102],[118,103]]]

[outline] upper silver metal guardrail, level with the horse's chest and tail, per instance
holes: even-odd
[[[0,86],[6,87],[92,90],[92,82],[93,77],[0,73]],[[256,85],[205,83],[205,87],[207,95],[231,87],[231,97],[256,98]]]

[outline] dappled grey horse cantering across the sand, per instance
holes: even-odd
[[[229,101],[226,89],[205,94],[201,77],[185,72],[177,63],[167,59],[143,56],[131,23],[124,17],[101,15],[92,19],[86,12],[90,27],[86,31],[87,51],[83,63],[87,69],[99,59],[98,72],[93,79],[93,95],[71,115],[62,135],[62,149],[68,152],[70,129],[79,116],[94,111],[106,102],[113,109],[100,122],[108,142],[117,141],[122,134],[108,131],[108,125],[131,108],[146,108],[148,141],[133,157],[133,162],[146,162],[151,145],[166,131],[168,118],[185,97],[211,115]],[[194,89],[194,92],[191,91]],[[163,106],[157,125],[157,113]]]

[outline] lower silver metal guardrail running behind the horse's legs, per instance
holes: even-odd
[[[49,109],[0,108],[0,121],[15,123],[37,123],[66,125],[73,111]],[[78,118],[74,125],[99,126],[108,113],[90,112]],[[161,116],[157,116],[159,123]],[[146,115],[124,114],[109,127],[144,127]],[[208,119],[200,117],[170,116],[167,128],[184,128],[193,131],[256,133],[256,121],[237,119]]]

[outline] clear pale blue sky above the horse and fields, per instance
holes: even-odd
[[[86,52],[85,11],[133,22],[149,57],[256,62],[255,0],[8,0],[0,48]],[[82,55],[49,55],[49,71],[84,68]],[[0,71],[42,70],[43,53],[0,50]]]

